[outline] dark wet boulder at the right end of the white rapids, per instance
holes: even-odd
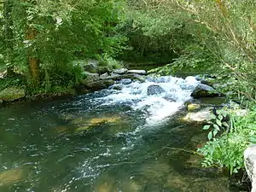
[[[195,87],[195,90],[192,92],[191,96],[193,96],[195,99],[198,99],[201,97],[220,96],[220,94],[207,84],[198,84]]]

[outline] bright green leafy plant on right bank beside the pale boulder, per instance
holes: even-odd
[[[198,152],[205,159],[202,166],[227,168],[230,174],[243,168],[243,152],[249,143],[255,142],[256,108],[241,116],[241,109],[222,109],[203,130],[210,130],[209,142]],[[218,137],[216,137],[218,135]]]

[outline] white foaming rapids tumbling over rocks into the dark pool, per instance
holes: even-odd
[[[112,94],[102,97],[102,105],[128,105],[133,110],[143,111],[147,124],[159,124],[183,107],[198,83],[191,76],[186,79],[172,76],[147,77],[144,83],[134,81],[131,84],[119,81],[113,85],[119,86],[119,90],[113,90]]]

